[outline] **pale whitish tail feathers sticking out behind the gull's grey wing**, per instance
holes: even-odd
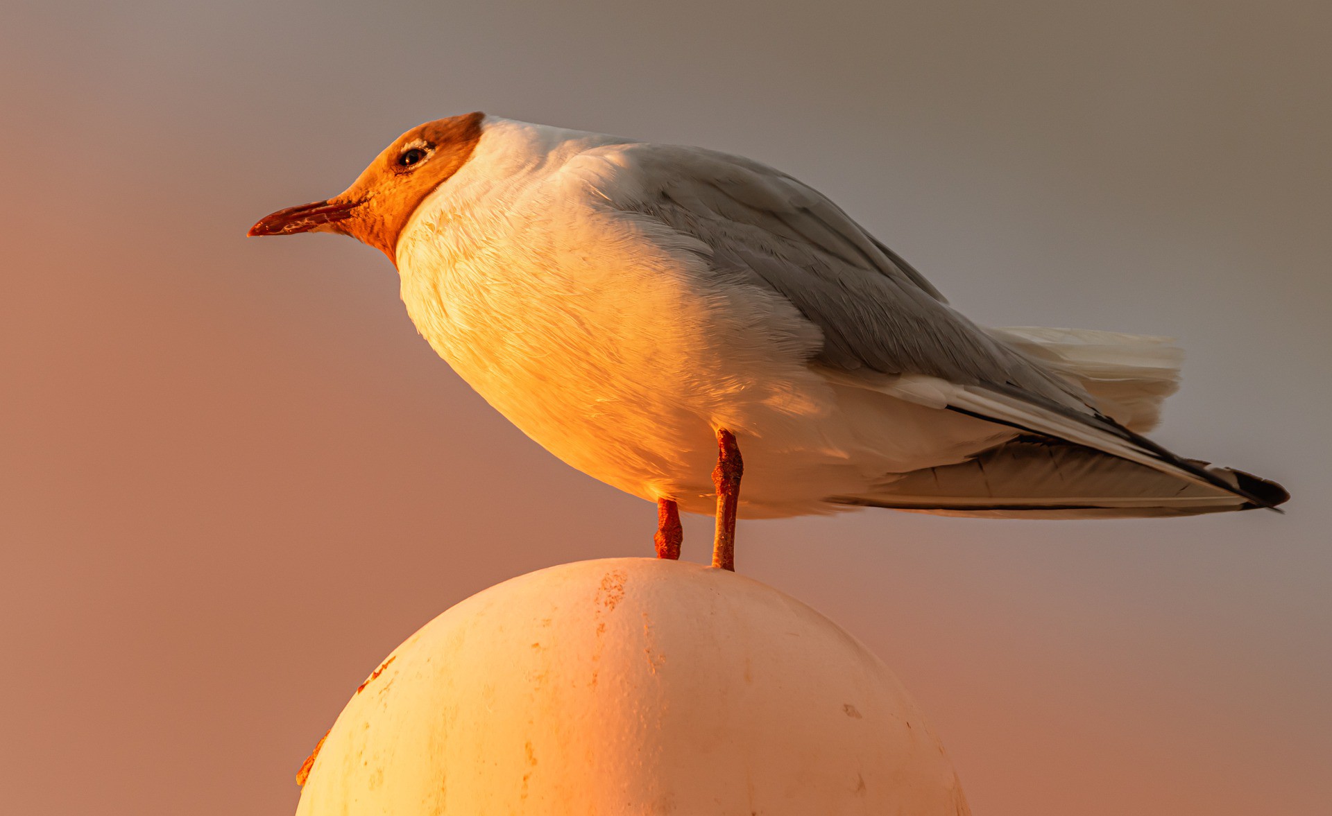
[[[1074,379],[1104,415],[1134,433],[1156,427],[1166,398],[1179,390],[1184,351],[1169,337],[1035,326],[988,331]]]

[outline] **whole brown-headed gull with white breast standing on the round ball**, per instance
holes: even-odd
[[[742,511],[1289,498],[1143,435],[1177,387],[1169,338],[976,325],[822,193],[739,156],[468,113],[249,234],[306,232],[382,250],[417,330],[492,406],[657,503],[661,558],[679,556],[681,510],[715,512],[713,566],[734,570]]]

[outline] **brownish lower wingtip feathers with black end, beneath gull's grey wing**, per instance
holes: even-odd
[[[1275,482],[1188,462],[1264,505],[1047,437],[1019,437],[966,462],[890,477],[870,495],[829,501],[935,515],[1075,519],[1199,515],[1276,506],[1289,498]]]

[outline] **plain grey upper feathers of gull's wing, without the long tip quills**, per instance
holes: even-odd
[[[647,184],[621,205],[706,244],[719,272],[785,296],[823,331],[815,363],[1016,387],[1090,410],[1078,386],[955,311],[818,190],[737,156],[667,145],[631,150]]]

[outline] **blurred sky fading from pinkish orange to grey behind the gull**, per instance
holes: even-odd
[[[1332,7],[1082,5],[5,3],[5,812],[290,813],[433,615],[650,554],[376,250],[244,237],[474,109],[774,164],[980,322],[1179,337],[1156,438],[1287,515],[754,522],[739,568],[894,667],[978,816],[1327,812]]]

